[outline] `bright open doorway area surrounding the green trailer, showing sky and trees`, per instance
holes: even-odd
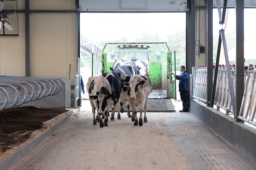
[[[81,13],[80,35],[99,49],[107,42],[167,42],[176,52],[177,64],[186,65],[186,13]],[[86,83],[92,75],[92,57],[84,49],[88,48],[80,53],[85,84],[81,97],[89,99]]]

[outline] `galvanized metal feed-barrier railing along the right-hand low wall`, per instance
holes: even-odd
[[[232,82],[236,89],[236,67],[230,65]],[[220,108],[226,111],[226,115],[234,113],[232,110],[231,94],[229,90],[229,80],[227,78],[227,67],[225,65],[218,66],[218,75],[215,89],[214,105],[217,110]],[[238,119],[246,121],[256,126],[256,66],[245,66],[244,95],[241,103]],[[207,67],[198,66],[197,70],[193,68],[191,75],[191,97],[201,102],[207,103]],[[236,95],[236,91],[235,91]]]

